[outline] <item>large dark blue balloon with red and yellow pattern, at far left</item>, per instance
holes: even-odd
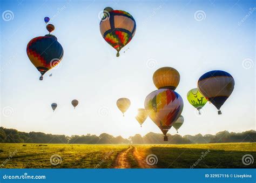
[[[40,80],[48,70],[59,64],[63,57],[63,48],[53,35],[33,38],[26,47],[26,53],[36,69],[41,73]]]

